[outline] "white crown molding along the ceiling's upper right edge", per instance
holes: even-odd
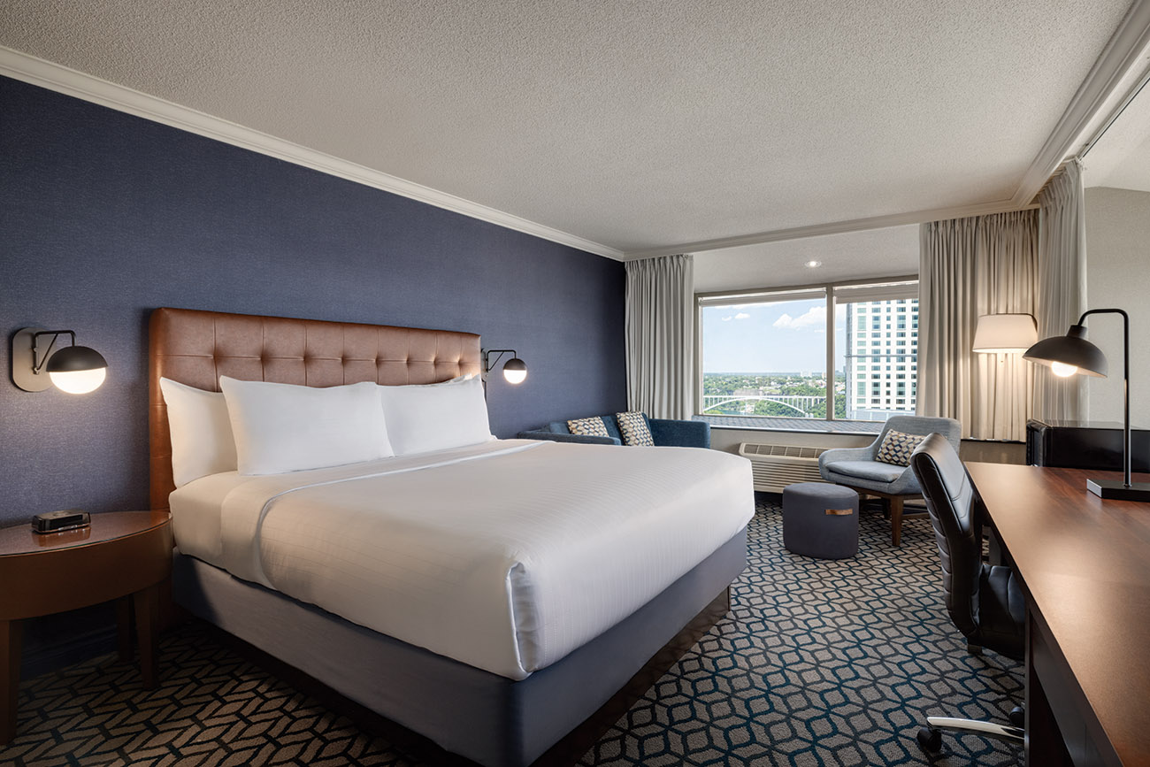
[[[1042,190],[1058,167],[1078,153],[1086,131],[1138,56],[1150,45],[1150,0],[1136,0],[1106,41],[1102,55],[1087,72],[1074,98],[1030,162],[1014,193],[1015,205],[1026,205]]]

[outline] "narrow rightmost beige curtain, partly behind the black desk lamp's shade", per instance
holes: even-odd
[[[1132,278],[1137,278],[1132,276]],[[1038,338],[1063,336],[1086,310],[1086,201],[1082,167],[1071,160],[1038,194]],[[1059,378],[1034,366],[1034,414],[1075,421],[1088,417],[1086,377]]]

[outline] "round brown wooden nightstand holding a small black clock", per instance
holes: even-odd
[[[39,535],[0,529],[0,745],[16,735],[21,621],[117,600],[120,657],[131,657],[131,608],[144,687],[155,685],[160,584],[171,575],[168,512],[92,514],[91,527]]]

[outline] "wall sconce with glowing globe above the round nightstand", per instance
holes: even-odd
[[[53,346],[64,333],[71,337],[71,346],[53,353]],[[24,391],[44,391],[55,384],[69,394],[85,394],[100,388],[107,370],[103,355],[94,348],[77,346],[71,330],[22,328],[12,337],[12,382]]]

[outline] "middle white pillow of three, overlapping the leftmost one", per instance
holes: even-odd
[[[376,384],[293,386],[220,376],[240,474],[283,474],[394,455]]]

